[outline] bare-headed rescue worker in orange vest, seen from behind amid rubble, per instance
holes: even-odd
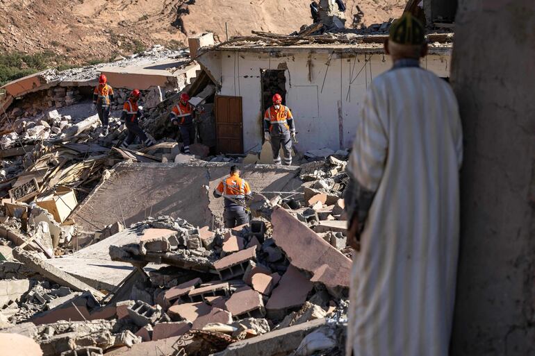
[[[234,228],[249,222],[249,212],[245,207],[245,198],[251,198],[249,183],[240,178],[240,169],[231,167],[231,174],[224,178],[214,189],[213,196],[225,198],[224,224],[225,228]]]

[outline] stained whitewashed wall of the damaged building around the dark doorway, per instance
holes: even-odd
[[[368,84],[391,67],[388,56],[374,54],[370,60],[370,54],[354,53],[270,56],[224,51],[207,53],[201,62],[220,83],[218,94],[243,98],[245,151],[259,148],[262,142],[261,69],[286,69],[286,105],[295,117],[297,150],[329,147],[336,151],[353,142]],[[429,56],[422,65],[439,76],[449,76],[450,56]]]

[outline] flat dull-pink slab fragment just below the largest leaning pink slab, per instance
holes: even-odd
[[[268,315],[278,318],[287,314],[287,310],[300,307],[306,301],[312,287],[311,281],[290,264],[265,305]]]

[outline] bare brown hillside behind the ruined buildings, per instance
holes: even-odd
[[[108,60],[152,44],[179,46],[188,35],[225,38],[251,30],[291,33],[312,22],[309,0],[0,0],[0,51],[65,55],[73,63]],[[346,1],[367,25],[399,16],[404,0]]]

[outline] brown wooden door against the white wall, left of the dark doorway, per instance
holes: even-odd
[[[217,152],[243,153],[241,96],[215,96]]]

